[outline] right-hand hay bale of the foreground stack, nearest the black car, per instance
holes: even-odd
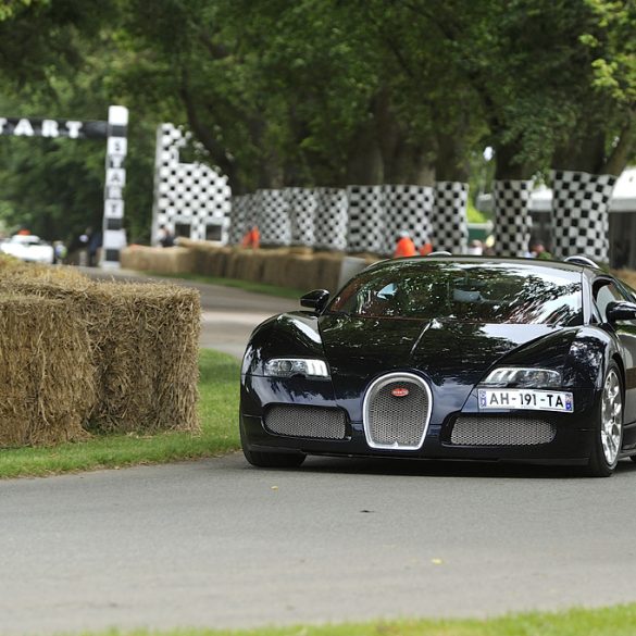
[[[93,332],[99,431],[199,431],[199,292],[174,285],[100,283]],[[99,332],[99,333],[97,333]]]

